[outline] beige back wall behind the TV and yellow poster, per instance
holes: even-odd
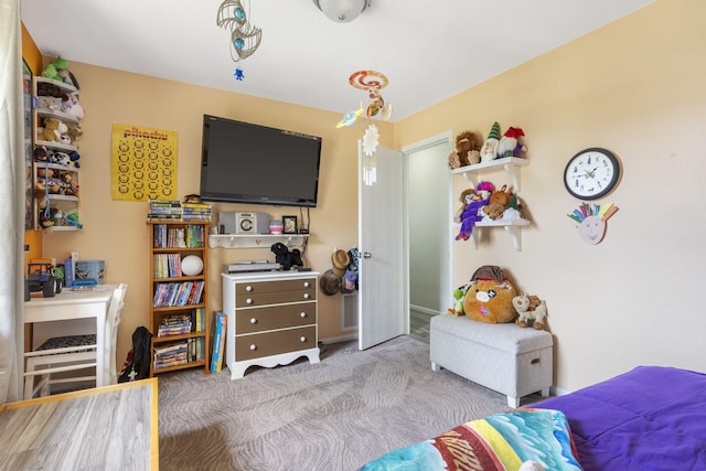
[[[86,110],[81,139],[81,220],[78,233],[44,235],[44,255],[64,259],[78,250],[83,259],[105,259],[109,282],[129,283],[119,329],[118,361],[131,345],[138,325],[148,325],[149,251],[145,224],[148,204],[113,201],[110,197],[111,125],[126,124],[175,130],[179,133],[178,194],[199,193],[201,129],[204,114],[211,114],[323,138],[319,205],[312,208],[308,259],[314,270],[331,266],[334,247],[357,244],[357,153],[356,140],[365,120],[356,127],[335,129],[341,115],[296,105],[258,99],[175,82],[146,77],[82,63],[71,63],[81,84],[81,103]],[[234,79],[234,89],[237,83]],[[376,121],[381,143],[392,147],[393,127]],[[265,211],[272,216],[297,214],[298,208],[213,204],[218,211]],[[215,224],[215,221],[214,221]],[[221,266],[236,259],[270,258],[266,249],[208,250],[211,266],[210,308],[222,308]],[[321,339],[351,335],[340,331],[340,296],[321,296]],[[354,334],[355,332],[353,332]]]

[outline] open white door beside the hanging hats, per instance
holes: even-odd
[[[403,205],[403,154],[359,142],[359,349],[402,335],[409,311]],[[367,176],[375,175],[375,182]],[[371,184],[366,184],[366,180]]]

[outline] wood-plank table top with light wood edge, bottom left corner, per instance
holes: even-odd
[[[157,378],[0,405],[7,469],[159,469]]]

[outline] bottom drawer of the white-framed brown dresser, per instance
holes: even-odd
[[[235,339],[235,360],[258,358],[317,346],[314,325],[282,331],[238,335]]]

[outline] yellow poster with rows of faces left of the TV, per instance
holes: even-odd
[[[113,200],[178,200],[176,156],[176,131],[113,125]]]

